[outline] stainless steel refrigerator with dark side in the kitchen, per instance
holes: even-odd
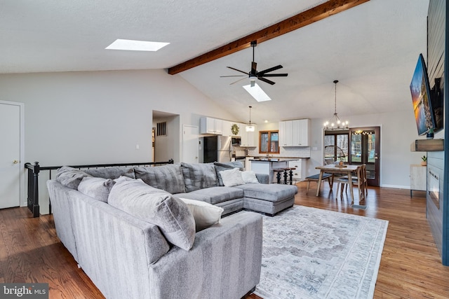
[[[232,138],[208,136],[203,141],[203,160],[207,162],[229,162],[232,158]]]

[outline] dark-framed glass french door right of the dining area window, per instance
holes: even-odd
[[[368,185],[379,186],[380,127],[355,127],[349,131],[349,164],[365,164]]]

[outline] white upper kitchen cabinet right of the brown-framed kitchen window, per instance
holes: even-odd
[[[310,120],[286,120],[279,122],[280,146],[309,146]]]

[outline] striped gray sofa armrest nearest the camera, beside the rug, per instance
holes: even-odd
[[[262,216],[241,211],[197,232],[189,251],[174,247],[154,263],[150,297],[242,298],[258,284],[261,264]]]

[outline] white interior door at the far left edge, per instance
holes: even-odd
[[[0,103],[0,209],[20,206],[20,105]]]

